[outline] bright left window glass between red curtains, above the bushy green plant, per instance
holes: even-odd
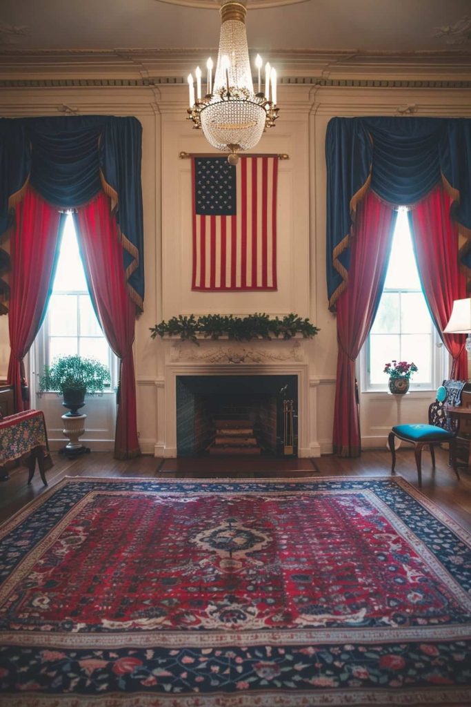
[[[52,295],[37,336],[37,370],[58,356],[88,356],[108,366],[112,388],[116,356],[109,348],[88,293],[71,214],[66,215]]]

